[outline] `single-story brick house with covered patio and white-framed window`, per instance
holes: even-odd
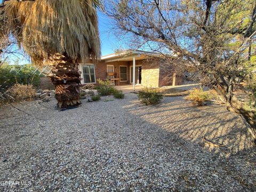
[[[147,87],[182,84],[183,75],[176,75],[170,66],[166,68],[158,53],[125,51],[102,56],[98,63],[80,63],[79,70],[82,84],[96,84],[97,79],[107,79],[109,74],[115,74],[111,77],[116,85],[129,85],[133,81]]]

